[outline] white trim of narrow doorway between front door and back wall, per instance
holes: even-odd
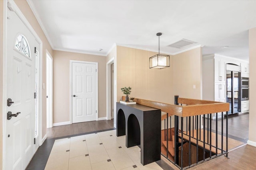
[[[48,98],[49,98],[49,104],[50,104],[50,113],[49,113],[49,119],[47,120],[48,122],[49,122],[49,127],[52,127],[52,113],[53,113],[53,106],[52,106],[52,101],[53,101],[53,58],[52,58],[52,56],[50,55],[50,53],[49,53],[49,51],[48,50],[46,50],[46,58],[50,58],[52,61],[51,61],[51,63],[50,63],[50,73],[49,74],[51,74],[50,75],[50,84],[49,84],[49,86],[51,86],[51,89],[50,89],[50,91],[49,91],[49,94],[48,94]],[[46,59],[47,60],[47,59]],[[47,68],[46,68],[47,69]],[[46,78],[47,78],[47,76],[46,76]],[[46,80],[46,82],[47,82],[48,80]],[[47,87],[46,87],[46,90],[47,90]],[[46,114],[47,114],[47,112],[46,112]]]

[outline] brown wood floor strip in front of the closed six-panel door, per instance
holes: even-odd
[[[114,128],[114,119],[73,123],[47,128],[47,138],[64,137]]]

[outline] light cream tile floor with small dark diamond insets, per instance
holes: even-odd
[[[140,148],[125,146],[116,130],[55,140],[45,170],[162,170],[140,163]]]

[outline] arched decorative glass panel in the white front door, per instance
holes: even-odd
[[[19,35],[16,39],[15,48],[26,55],[27,57],[30,57],[30,47],[28,44],[28,41],[24,35]]]

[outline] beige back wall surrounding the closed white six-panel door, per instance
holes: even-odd
[[[98,63],[98,117],[106,117],[106,57],[53,51],[53,123],[70,121],[70,60]]]

